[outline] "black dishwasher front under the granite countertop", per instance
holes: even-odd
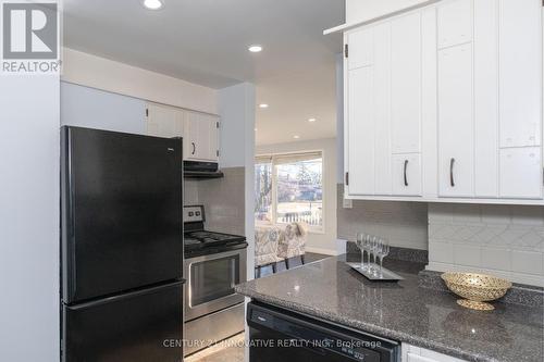
[[[268,304],[247,309],[251,362],[398,362],[399,344]]]

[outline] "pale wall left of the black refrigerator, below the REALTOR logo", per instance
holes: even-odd
[[[0,361],[59,361],[59,77],[0,78]]]

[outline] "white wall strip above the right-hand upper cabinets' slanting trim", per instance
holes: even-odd
[[[346,0],[346,24],[361,23],[429,0]]]

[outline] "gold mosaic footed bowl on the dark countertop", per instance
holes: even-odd
[[[510,282],[486,274],[444,273],[442,279],[449,290],[465,298],[457,300],[457,304],[478,311],[494,310],[486,301],[504,297],[511,287]]]

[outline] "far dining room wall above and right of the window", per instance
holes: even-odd
[[[336,138],[257,147],[257,154],[323,150],[324,233],[308,235],[307,250],[337,254],[336,241]]]

